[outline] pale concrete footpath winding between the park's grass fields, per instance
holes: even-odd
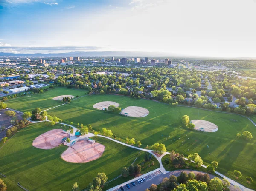
[[[87,96],[87,95],[86,95],[86,96]],[[84,97],[84,96],[82,96],[82,97]],[[78,98],[79,98],[79,97],[77,97],[77,98],[75,98],[75,99],[78,99]],[[73,99],[73,100],[75,100],[75,99]],[[158,102],[158,101],[156,101],[156,102]],[[161,102],[158,102],[158,103],[161,103]],[[64,104],[66,104],[66,103],[64,103]],[[61,105],[64,105],[64,104],[61,104]],[[166,104],[166,103],[163,103],[163,104]],[[58,106],[61,106],[61,105],[58,105]],[[57,107],[58,107],[58,106],[57,106]],[[178,105],[178,106],[180,106],[180,107],[189,107],[189,106],[185,106],[185,105]],[[55,107],[53,107],[53,108],[55,108]],[[189,107],[189,108],[194,108],[194,107]],[[50,110],[50,109],[52,109],[52,108],[48,108],[47,110]],[[213,111],[213,110],[204,109],[204,108],[198,108],[198,109],[203,109],[203,110],[207,110],[207,111]],[[14,110],[14,109],[11,109],[11,110],[17,111],[17,110]],[[45,110],[45,111],[47,111],[47,110]],[[17,111],[17,112],[20,112],[20,111]],[[213,112],[226,113],[226,112],[221,112],[221,111],[213,111]],[[20,112],[20,113],[23,113],[23,112]],[[229,113],[228,113],[228,114],[229,114]],[[230,114],[233,114],[233,113],[230,113]],[[236,114],[236,115],[240,115],[240,114]],[[240,116],[246,117],[246,116],[244,116],[244,115],[240,115]],[[254,123],[253,120],[251,120],[249,117],[246,117],[246,118],[247,118],[248,120],[250,120],[250,121],[253,123],[253,125],[256,126],[256,123]],[[47,119],[47,116],[46,116],[45,121],[48,121],[48,122],[49,122],[49,120]],[[44,121],[36,121],[36,122],[35,122],[35,121],[31,121],[30,123],[40,123],[40,122],[44,122]],[[58,123],[58,124],[61,124],[61,125],[67,125],[67,126],[72,127],[72,128],[73,128],[73,132],[76,132],[76,131],[78,130],[78,129],[77,129],[76,127],[74,127],[73,125],[69,125],[69,124],[65,124],[65,123],[60,123],[60,122],[57,122],[57,123]],[[104,137],[104,138],[109,139],[109,140],[112,140],[112,141],[114,141],[114,142],[116,142],[116,143],[119,143],[119,144],[122,144],[122,145],[125,145],[125,146],[128,146],[128,147],[131,147],[131,148],[134,148],[134,149],[137,149],[137,150],[140,150],[140,151],[145,151],[145,152],[148,152],[148,153],[152,154],[152,155],[157,159],[157,161],[159,162],[160,168],[157,168],[157,169],[155,169],[155,170],[153,170],[153,171],[150,171],[150,172],[148,172],[148,173],[146,173],[146,174],[143,174],[143,175],[140,176],[140,177],[147,176],[147,175],[152,174],[152,173],[154,173],[154,172],[156,172],[156,171],[161,171],[163,174],[170,173],[169,171],[166,171],[166,170],[165,170],[165,168],[163,167],[163,164],[162,164],[162,158],[163,158],[166,154],[170,154],[169,152],[165,152],[165,153],[162,154],[160,157],[157,157],[157,156],[152,152],[152,150],[144,149],[144,148],[139,148],[139,147],[132,146],[132,145],[128,145],[128,144],[126,144],[126,143],[122,143],[122,142],[120,142],[120,141],[118,141],[118,140],[115,140],[115,139],[112,139],[112,138],[110,138],[110,137],[106,137],[106,136],[103,136],[103,135],[97,135],[97,136],[99,136],[99,137]],[[88,134],[87,134],[87,137],[95,137],[95,136],[94,136],[94,134],[92,134],[92,133],[88,133]],[[70,139],[71,139],[71,140],[76,140],[76,137],[74,136],[74,133],[73,133],[73,135],[70,137]],[[185,159],[185,160],[188,160],[187,158],[184,158],[184,159]],[[192,161],[192,162],[194,162],[194,161]],[[205,165],[201,165],[201,166],[204,167],[204,168],[206,168]],[[182,171],[183,171],[183,170],[182,170]],[[171,172],[173,172],[173,171],[171,171]],[[203,172],[203,173],[204,173],[204,172]],[[242,191],[254,191],[254,190],[252,190],[252,189],[250,189],[250,188],[246,188],[245,186],[239,184],[238,182],[236,182],[236,181],[234,181],[234,180],[232,180],[232,179],[230,179],[230,178],[224,176],[224,174],[221,174],[221,173],[219,173],[219,172],[217,172],[217,171],[215,171],[215,173],[218,174],[220,177],[227,179],[227,180],[231,183],[231,185],[238,186]],[[134,178],[134,179],[132,179],[132,180],[129,180],[128,182],[124,182],[124,183],[122,183],[122,184],[120,184],[120,185],[117,185],[117,186],[115,186],[115,187],[113,187],[113,188],[110,188],[108,191],[113,191],[113,190],[119,188],[120,186],[125,186],[125,184],[128,184],[128,183],[130,183],[131,181],[136,181],[136,180],[137,180],[138,178],[140,178],[140,177],[136,177],[136,178]]]

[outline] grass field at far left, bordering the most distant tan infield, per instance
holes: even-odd
[[[52,98],[61,95],[78,95],[82,96],[87,91],[85,90],[76,90],[76,89],[68,89],[68,88],[54,88],[49,89],[42,94],[30,94],[31,97],[22,96],[17,97],[11,100],[6,101],[7,107],[15,108],[18,111],[29,111],[31,112],[34,108],[41,108],[42,110],[47,108],[52,108],[54,106],[60,105],[60,101],[52,100]]]

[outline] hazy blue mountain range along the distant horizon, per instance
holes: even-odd
[[[0,57],[169,57],[169,58],[191,58],[191,59],[227,59],[224,57],[200,57],[200,56],[188,56],[182,54],[168,54],[163,52],[137,52],[137,51],[90,51],[90,52],[65,52],[65,53],[29,53],[29,54],[21,54],[21,53],[6,53],[0,52]],[[230,58],[231,59],[231,58]],[[252,58],[233,58],[233,59],[252,59]],[[255,59],[255,58],[254,58]]]

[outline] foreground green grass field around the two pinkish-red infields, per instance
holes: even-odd
[[[105,145],[102,157],[84,164],[62,160],[60,156],[67,149],[65,145],[51,150],[32,146],[36,137],[55,128],[61,126],[45,126],[44,122],[29,125],[12,137],[0,150],[0,172],[7,176],[3,180],[8,191],[19,190],[17,182],[30,191],[70,191],[75,182],[84,189],[98,172],[105,172],[111,180],[121,174],[122,167],[131,165],[136,157],[138,158],[134,164],[140,164],[144,160],[145,152],[140,153],[136,149],[100,137],[94,139]],[[145,166],[143,172],[156,168],[159,168],[159,163],[154,158],[154,166]],[[122,179],[120,177],[114,180],[111,185],[118,185]]]

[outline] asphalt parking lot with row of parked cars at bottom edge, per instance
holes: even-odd
[[[162,175],[163,174],[161,171],[156,171],[152,174],[149,174],[148,176],[145,176],[144,178],[146,179],[146,181],[143,181],[141,183],[134,181],[135,186],[133,186],[131,184],[131,182],[129,182],[130,189],[128,189],[125,185],[123,186],[123,188],[125,191],[128,191],[128,190],[144,191],[146,188],[149,188],[151,184],[154,184],[155,181],[152,181],[152,180],[157,179],[157,178],[161,177]],[[117,188],[114,191],[121,191],[121,189]]]

